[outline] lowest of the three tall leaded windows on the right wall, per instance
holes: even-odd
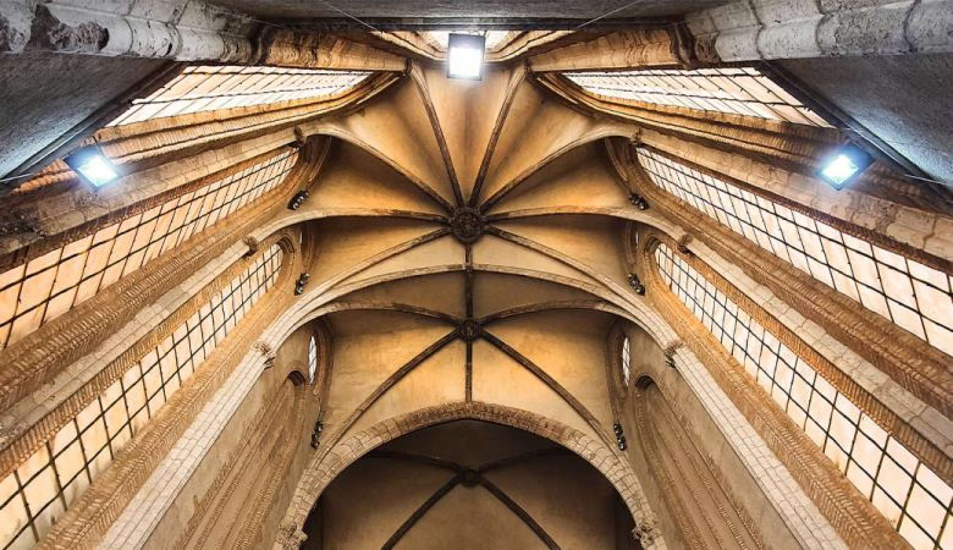
[[[953,548],[953,489],[665,245],[659,274],[741,368],[914,548]]]

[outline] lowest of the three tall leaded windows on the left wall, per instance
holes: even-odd
[[[0,548],[46,535],[272,286],[274,245],[0,481]]]

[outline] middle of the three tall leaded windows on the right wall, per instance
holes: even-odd
[[[953,354],[953,275],[843,234],[654,151],[639,148],[639,163],[659,188]]]

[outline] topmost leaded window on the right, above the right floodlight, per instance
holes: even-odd
[[[564,74],[586,92],[606,98],[629,99],[699,111],[744,114],[809,126],[831,126],[816,112],[753,67],[586,71]]]

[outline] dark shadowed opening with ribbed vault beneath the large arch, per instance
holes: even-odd
[[[341,472],[302,548],[640,548],[612,484],[535,434],[459,419],[395,438]]]

